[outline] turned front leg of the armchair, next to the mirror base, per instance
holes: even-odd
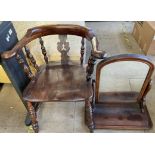
[[[89,100],[85,100],[85,121],[90,132],[94,132],[93,110]]]

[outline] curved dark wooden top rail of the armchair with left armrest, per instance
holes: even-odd
[[[11,50],[2,53],[2,57],[7,59],[14,56],[20,49],[22,49],[25,45],[31,42],[34,39],[47,36],[47,35],[76,35],[87,38],[91,41],[95,34],[89,28],[80,26],[80,25],[69,25],[69,24],[61,24],[61,25],[44,25],[37,26],[27,30],[25,36],[17,43],[17,45]],[[94,39],[93,39],[94,40]],[[95,42],[92,42],[93,51],[97,51],[97,47],[95,47]]]

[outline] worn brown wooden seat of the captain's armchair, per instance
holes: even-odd
[[[23,92],[25,101],[81,101],[92,95],[86,81],[85,68],[80,65],[43,65]]]

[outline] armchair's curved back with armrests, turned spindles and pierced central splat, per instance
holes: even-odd
[[[81,57],[80,57],[80,62],[81,65],[83,64],[84,61],[84,51],[85,51],[85,46],[84,46],[84,38],[89,40],[92,44],[92,51],[90,51],[90,57],[88,65],[91,67],[88,67],[88,78],[91,76],[93,70],[92,70],[92,63],[95,61],[95,58],[103,58],[105,52],[98,51],[98,41],[97,38],[95,37],[95,34],[91,29],[88,29],[86,27],[80,26],[80,25],[66,25],[66,24],[59,24],[59,25],[45,25],[45,26],[37,26],[31,29],[27,30],[27,33],[25,36],[14,46],[14,48],[10,51],[5,51],[1,54],[1,57],[3,59],[10,59],[12,57],[16,57],[18,63],[22,66],[24,69],[24,72],[26,75],[32,79],[34,76],[27,64],[25,64],[25,61],[22,59],[22,57],[19,55],[20,51],[25,48],[25,52],[27,55],[27,58],[29,59],[30,64],[33,65],[35,70],[38,72],[39,71],[39,66],[34,59],[32,53],[30,52],[30,49],[27,47],[27,44],[30,43],[31,41],[35,39],[39,39],[39,43],[41,45],[41,50],[42,54],[44,56],[44,60],[46,64],[49,62],[49,58],[47,56],[46,48],[44,46],[44,41],[42,39],[43,36],[47,35],[75,35],[75,36],[80,36],[82,37],[81,40]],[[59,37],[61,38],[61,37]],[[69,43],[66,42],[65,38],[61,38],[61,41],[57,43],[57,49],[61,53],[61,62],[63,63],[68,63],[68,55],[67,52],[69,51]]]

